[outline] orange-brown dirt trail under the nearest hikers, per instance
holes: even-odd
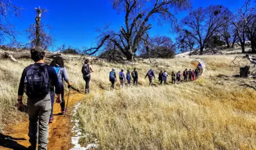
[[[60,104],[54,104],[53,123],[49,124],[49,150],[66,150],[72,147],[71,145],[71,128],[72,123],[70,117],[72,114],[73,105],[77,102],[84,100],[85,95],[77,92],[71,92],[68,101],[68,111],[66,117],[59,115]],[[67,102],[68,97],[65,96]],[[67,103],[66,103],[67,104]],[[4,135],[0,135],[0,149],[9,150],[16,149],[22,150],[30,146],[28,142],[28,118],[18,125],[9,125],[5,129]]]

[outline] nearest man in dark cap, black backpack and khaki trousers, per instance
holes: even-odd
[[[61,102],[61,88],[55,70],[44,63],[45,53],[36,46],[30,50],[31,59],[35,62],[27,66],[22,72],[18,89],[18,109],[22,108],[24,91],[27,95],[27,108],[29,117],[28,136],[30,147],[35,150],[46,150],[48,145],[49,118],[51,114],[50,84],[55,87],[56,102]],[[38,136],[39,130],[39,136]]]

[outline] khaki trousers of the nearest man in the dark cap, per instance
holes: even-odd
[[[35,148],[38,140],[38,150],[46,150],[49,136],[49,117],[51,114],[51,97],[27,98],[29,116],[28,136],[31,147]],[[38,126],[39,124],[39,126]],[[38,136],[39,129],[39,136]]]

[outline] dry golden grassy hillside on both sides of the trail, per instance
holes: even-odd
[[[84,91],[81,62],[76,55],[65,55],[65,63],[74,87]],[[194,68],[191,58],[154,59],[135,65],[92,63],[92,95],[82,102],[79,118],[84,137],[82,145],[95,143],[100,149],[256,149],[255,91],[216,77],[218,74],[238,74],[238,67],[230,62],[236,55],[194,56],[202,59],[207,68],[193,83],[148,87],[144,79],[152,68],[156,76],[160,70],[183,71]],[[239,61],[239,59],[238,59]],[[246,65],[246,59],[240,60]],[[32,63],[0,60],[0,128],[20,121],[16,101],[19,78],[24,67]],[[109,71],[115,67],[139,71],[139,87],[109,91]],[[170,81],[170,77],[168,78]],[[221,82],[220,82],[221,81]],[[220,84],[216,84],[220,83]],[[24,98],[26,99],[26,98]]]

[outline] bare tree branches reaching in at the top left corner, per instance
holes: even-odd
[[[3,42],[6,37],[11,41],[16,41],[14,25],[9,22],[7,17],[9,15],[19,16],[21,10],[22,8],[15,6],[13,1],[0,0],[0,42]]]

